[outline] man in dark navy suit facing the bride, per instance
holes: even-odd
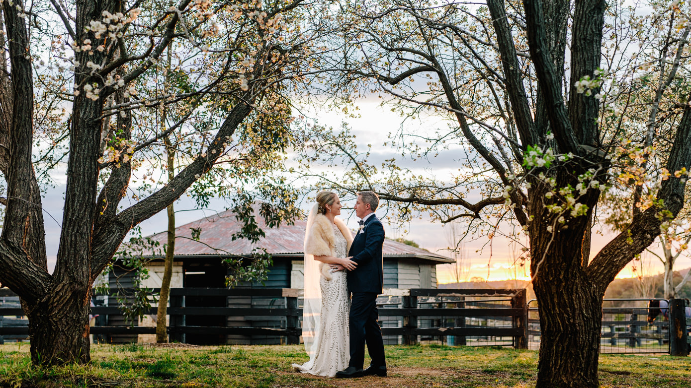
[[[348,255],[357,268],[348,274],[350,305],[350,363],[338,371],[336,377],[350,378],[374,375],[386,376],[384,340],[377,323],[377,295],[384,288],[384,226],[375,215],[379,196],[375,192],[359,192],[355,203],[355,215],[361,218],[357,235],[350,245]],[[362,370],[365,363],[365,343],[370,352],[370,367]]]

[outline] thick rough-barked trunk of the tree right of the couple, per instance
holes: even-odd
[[[566,174],[556,178],[560,187],[575,185]],[[589,280],[584,267],[591,211],[575,218],[564,214],[567,221],[559,223],[561,214],[545,206],[544,187],[533,187],[531,275],[542,333],[536,386],[596,388],[604,287]],[[597,195],[590,192],[581,199],[592,209]]]

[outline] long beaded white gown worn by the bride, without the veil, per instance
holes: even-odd
[[[347,257],[345,249],[348,245],[341,230],[334,225],[336,240],[336,256]],[[332,279],[326,280],[323,275],[319,279],[321,288],[321,318],[319,320],[319,334],[315,338],[317,343],[314,360],[303,365],[293,364],[295,369],[303,373],[317,376],[336,376],[337,371],[348,367],[350,361],[350,344],[348,337],[348,314],[350,313],[350,299],[348,298],[348,283],[345,281],[347,271],[332,273]]]

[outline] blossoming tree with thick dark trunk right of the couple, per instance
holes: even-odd
[[[399,217],[417,210],[466,220],[489,238],[527,235],[542,331],[538,387],[598,387],[605,289],[684,203],[691,74],[679,62],[688,61],[688,7],[651,4],[637,14],[602,0],[391,0],[345,11],[352,25],[342,61],[355,90],[379,91],[409,116],[448,119],[437,131],[404,127],[391,143],[432,168],[436,154],[452,154],[458,169],[416,174],[396,158],[375,166],[341,134],[315,144],[330,163],[352,163],[345,178],[325,182],[375,190]],[[651,63],[642,53],[659,50],[659,26],[670,31],[670,55]],[[664,114],[649,122],[641,112],[652,105]],[[591,254],[607,191],[635,198],[637,211]]]

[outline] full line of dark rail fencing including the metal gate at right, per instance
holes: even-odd
[[[126,292],[127,290],[121,290]],[[301,332],[300,289],[225,289],[182,288],[171,289],[170,317],[167,332],[170,339],[187,342],[186,336],[217,335],[231,338],[285,338],[285,343],[299,343]],[[153,293],[157,294],[158,289]],[[227,297],[226,306],[200,307],[187,305],[188,300],[204,297]],[[7,298],[14,298],[7,301]],[[196,298],[196,299],[195,299]],[[271,300],[257,307],[234,306],[234,300],[264,298]],[[3,303],[3,300],[5,303]],[[278,303],[274,303],[276,301]],[[659,317],[647,323],[647,307],[640,307],[648,299],[607,300],[605,303],[638,303],[638,306],[603,307],[600,352],[602,353],[670,353],[683,355],[691,343],[686,327],[691,319],[679,316],[668,320]],[[532,300],[531,300],[532,301]],[[683,314],[683,301],[670,307]],[[524,349],[539,343],[538,309],[530,307],[525,289],[385,289],[378,301],[382,334],[385,338],[398,338],[395,343],[415,344],[419,340],[441,340],[449,344],[513,345]],[[270,307],[274,306],[274,307]],[[681,309],[679,308],[681,307]],[[144,314],[155,316],[151,307]],[[9,289],[0,289],[0,343],[4,337],[27,338],[28,326],[23,318],[17,295]],[[122,310],[113,306],[91,307],[91,314],[122,316]],[[674,315],[672,314],[672,315]],[[198,325],[195,317],[224,317],[227,325]],[[281,321],[281,327],[266,327],[262,318]],[[238,318],[235,326],[229,320]],[[240,319],[241,318],[241,319]],[[206,319],[206,318],[204,318]],[[259,322],[259,323],[257,323]],[[244,324],[243,324],[244,323]],[[253,325],[254,324],[254,325]],[[671,325],[670,325],[671,324]],[[672,338],[674,336],[680,338]],[[97,325],[91,327],[95,336],[138,336],[155,334],[155,327],[138,325]],[[135,337],[136,338],[136,337]],[[478,340],[481,338],[482,340]],[[508,338],[508,342],[507,342]],[[468,340],[466,342],[466,340]],[[484,342],[482,342],[484,341]],[[283,343],[283,340],[281,340]]]

